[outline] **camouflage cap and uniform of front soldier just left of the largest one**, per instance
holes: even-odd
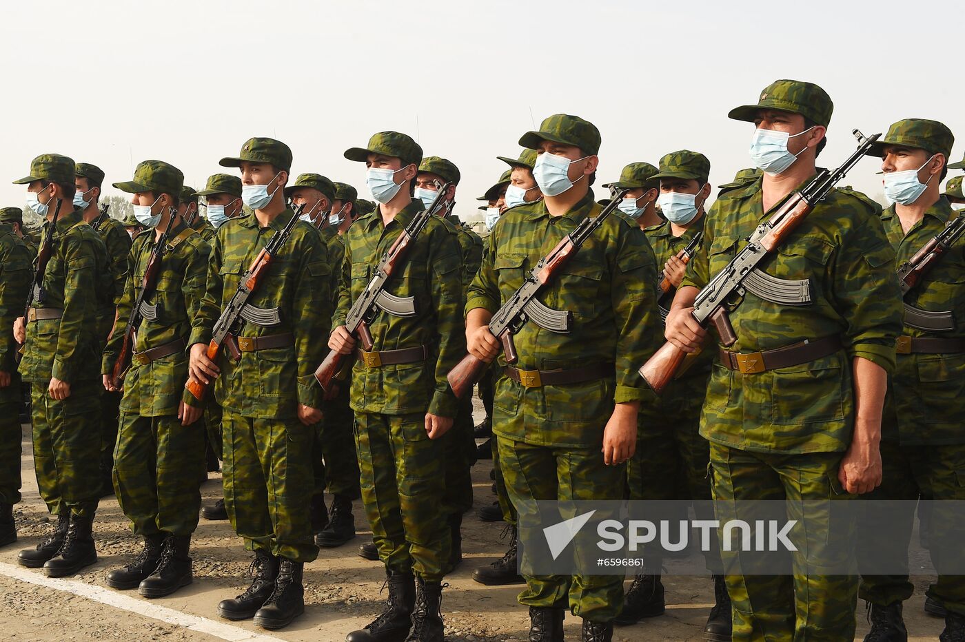
[[[520,145],[543,140],[575,145],[595,154],[599,132],[592,123],[558,115],[543,120]],[[466,311],[495,312],[522,284],[539,258],[549,253],[581,221],[600,212],[593,191],[569,212],[551,217],[544,201],[508,209],[486,239],[483,265],[469,288]],[[556,334],[527,323],[515,337],[521,369],[552,370],[595,364],[614,374],[567,386],[527,388],[502,372],[493,403],[495,433],[510,499],[522,514],[539,499],[620,499],[623,466],[604,466],[603,429],[615,403],[652,403],[636,372],[652,352],[658,333],[653,305],[656,270],[639,227],[612,216],[544,286],[540,302],[574,312],[573,327]],[[610,303],[612,302],[612,304]],[[500,357],[500,364],[505,361]],[[525,502],[525,503],[524,503]],[[607,623],[620,612],[621,575],[525,576],[519,602],[560,607]]]

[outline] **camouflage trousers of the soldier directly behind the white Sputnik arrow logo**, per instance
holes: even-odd
[[[621,499],[622,466],[605,466],[599,448],[553,448],[497,436],[512,504],[536,510],[533,500]],[[569,606],[573,615],[609,622],[623,605],[623,575],[524,575],[527,606]]]

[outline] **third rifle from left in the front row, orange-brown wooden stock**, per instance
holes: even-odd
[[[285,245],[285,241],[289,239],[291,228],[295,227],[304,208],[304,205],[298,206],[288,224],[268,239],[268,242],[262,248],[262,252],[258,253],[258,256],[252,261],[251,267],[241,275],[241,281],[238,281],[238,287],[234,296],[232,296],[232,300],[228,302],[228,306],[221,311],[221,316],[214,323],[211,342],[207,344],[207,358],[209,360],[214,361],[218,358],[222,346],[228,347],[234,361],[241,359],[241,351],[238,349],[235,336],[240,330],[242,320],[254,320],[259,325],[273,325],[280,322],[277,308],[273,310],[254,308],[248,305],[248,299],[266,278],[268,266],[278,254],[278,251],[282,249],[282,246]],[[188,380],[184,388],[187,388],[195,399],[201,401],[207,394],[207,386],[200,381]]]

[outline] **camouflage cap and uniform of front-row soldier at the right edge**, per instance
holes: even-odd
[[[899,120],[888,130],[887,136],[869,152],[881,156],[884,145],[899,145],[924,149],[929,155],[942,153],[948,158],[953,137],[951,131],[934,120]],[[952,188],[953,189],[953,188]],[[959,188],[960,189],[960,188]],[[951,220],[953,212],[945,197],[925,211],[924,218],[907,233],[901,227],[892,205],[881,215],[888,240],[897,254],[897,262],[911,258]],[[903,337],[932,337],[965,339],[965,327],[958,319],[965,318],[965,248],[961,243],[951,247],[924,281],[905,296],[905,303],[932,312],[951,310],[958,327],[950,332],[927,332],[905,325]],[[903,338],[902,343],[908,339]],[[910,346],[910,343],[908,344]],[[882,420],[881,459],[884,476],[881,486],[864,495],[869,499],[965,499],[965,435],[961,430],[965,410],[965,350],[947,353],[906,353],[899,348],[897,365],[892,374],[889,395]],[[905,502],[910,504],[911,501]],[[905,559],[914,510],[896,515],[871,515],[862,522],[863,538],[873,538],[880,532],[877,523],[894,527],[896,521],[905,527],[903,538],[889,541],[893,559]],[[950,541],[960,541],[961,533],[950,533],[940,520],[932,521],[932,555],[948,547]],[[949,538],[954,538],[950,540]],[[939,563],[940,559],[936,559]],[[913,585],[908,575],[865,575],[860,595],[879,606],[901,602],[911,597]],[[928,589],[928,597],[943,602],[946,608],[965,614],[965,578],[939,575],[938,582]]]

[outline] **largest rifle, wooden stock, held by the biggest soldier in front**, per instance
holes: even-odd
[[[758,267],[786,241],[794,228],[811,214],[814,206],[828,195],[881,136],[875,134],[866,138],[857,129],[852,133],[858,139],[858,148],[841,167],[834,172],[821,170],[810,183],[790,195],[767,221],[754,230],[747,239],[747,245],[731,259],[727,267],[714,275],[697,294],[692,312],[694,319],[703,328],[712,323],[725,346],[731,346],[737,340],[737,334],[734,333],[728,317],[729,306],[730,309],[735,306],[729,302],[735,297],[743,296],[746,290],[755,291],[755,288],[767,287],[777,281]],[[809,302],[810,291],[807,298],[787,303],[801,305]],[[673,379],[685,356],[683,350],[668,341],[644,363],[640,368],[640,375],[647,381],[648,386],[659,394]]]

